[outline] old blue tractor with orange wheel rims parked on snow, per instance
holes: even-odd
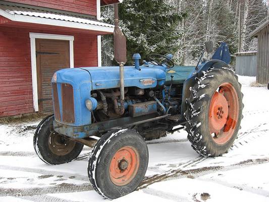
[[[145,140],[180,127],[198,154],[228,152],[240,129],[243,104],[226,43],[211,60],[201,57],[196,67],[174,67],[171,54],[150,54],[143,62],[134,54],[134,66],[124,66],[126,39],[116,5],[114,46],[120,67],[68,68],[53,75],[54,115],[34,135],[43,162],[68,163],[84,145],[93,147],[89,180],[100,195],[113,199],[141,183],[148,165]],[[210,52],[212,43],[205,47]]]

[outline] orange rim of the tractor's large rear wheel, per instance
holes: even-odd
[[[233,136],[239,114],[238,95],[231,83],[221,84],[214,92],[209,107],[209,131],[213,140],[225,144]]]

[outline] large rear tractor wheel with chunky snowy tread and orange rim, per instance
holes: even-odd
[[[241,84],[228,68],[210,69],[196,78],[185,112],[188,139],[198,154],[218,157],[228,152],[242,119]]]

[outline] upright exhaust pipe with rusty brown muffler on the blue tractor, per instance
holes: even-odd
[[[117,114],[124,114],[124,65],[127,61],[126,56],[126,37],[119,27],[119,8],[114,4],[115,28],[114,28],[114,55],[115,60],[120,65],[120,88],[121,88],[121,107]]]

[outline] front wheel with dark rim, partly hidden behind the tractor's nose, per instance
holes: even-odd
[[[53,120],[54,115],[50,115],[37,126],[34,134],[35,153],[49,165],[71,162],[79,156],[84,145],[55,131],[50,131]]]

